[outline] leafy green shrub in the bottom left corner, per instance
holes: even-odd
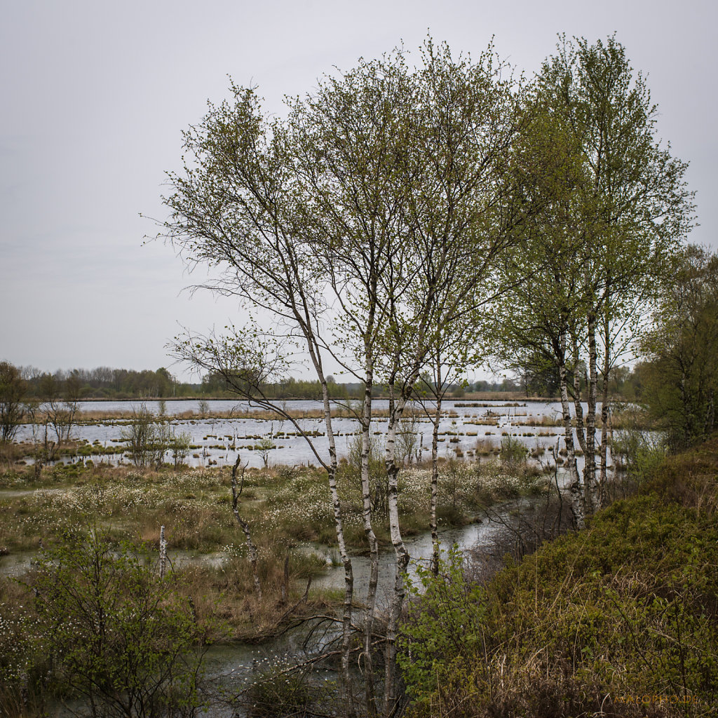
[[[28,631],[57,691],[82,696],[93,716],[195,712],[200,632],[172,574],[160,579],[133,546],[94,528],[44,551],[27,585]]]

